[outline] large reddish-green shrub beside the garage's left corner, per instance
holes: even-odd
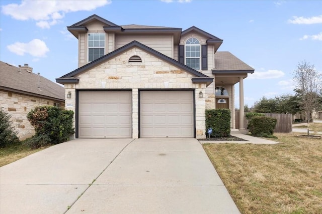
[[[39,106],[31,110],[27,118],[34,126],[36,135],[47,135],[52,144],[69,140],[74,134],[73,111],[55,106]]]

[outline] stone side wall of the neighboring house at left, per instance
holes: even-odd
[[[3,108],[4,111],[11,115],[11,120],[14,128],[18,131],[17,136],[20,140],[31,137],[35,133],[34,127],[27,119],[27,114],[30,112],[30,110],[36,106],[52,106],[54,105],[54,102],[60,103],[60,106],[64,105],[64,103],[54,100],[0,91],[0,108]]]

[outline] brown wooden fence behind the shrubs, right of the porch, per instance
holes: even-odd
[[[277,124],[274,129],[276,133],[291,133],[292,132],[292,114],[273,114],[264,113],[267,117],[273,117],[277,119]],[[248,121],[244,117],[244,128],[247,128]],[[235,128],[239,129],[239,111],[235,111]]]

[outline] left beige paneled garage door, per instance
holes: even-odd
[[[79,138],[131,138],[131,91],[79,91]]]

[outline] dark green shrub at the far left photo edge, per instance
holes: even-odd
[[[12,127],[11,116],[0,108],[0,148],[18,143],[18,132]]]

